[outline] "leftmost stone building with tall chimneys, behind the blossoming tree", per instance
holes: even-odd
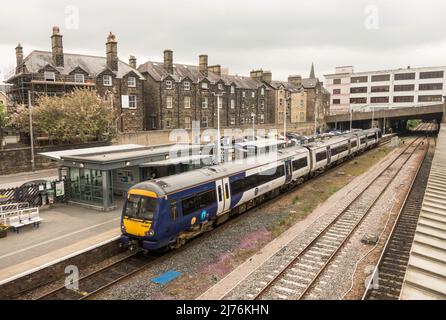
[[[75,88],[95,89],[117,111],[120,131],[145,128],[144,77],[136,69],[134,57],[129,64],[119,60],[114,34],[107,37],[103,57],[65,53],[58,27],[53,28],[51,47],[51,51],[32,51],[25,58],[23,47],[16,47],[16,72],[7,80],[12,85],[10,104],[28,105],[28,92],[34,105],[39,95],[58,96]]]

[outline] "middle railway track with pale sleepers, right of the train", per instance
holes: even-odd
[[[409,143],[359,195],[348,199],[345,209],[287,265],[270,275],[265,285],[259,281],[260,290],[256,288],[254,299],[305,298],[423,141],[416,138]]]

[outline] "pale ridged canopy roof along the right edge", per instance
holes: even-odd
[[[438,134],[400,299],[446,299],[446,124]]]

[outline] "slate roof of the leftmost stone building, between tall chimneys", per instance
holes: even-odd
[[[64,67],[56,67],[52,53],[49,51],[32,51],[23,61],[27,70],[31,73],[37,73],[47,65],[57,69],[60,74],[67,75],[77,67],[85,70],[90,76],[96,77],[103,71],[107,70],[107,58],[99,56],[90,56],[83,54],[64,53]],[[132,68],[127,63],[119,60],[118,71],[114,72],[117,78],[122,78],[129,72],[134,72],[140,79],[144,79],[142,74]],[[17,75],[15,75],[17,76]]]

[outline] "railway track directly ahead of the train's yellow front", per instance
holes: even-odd
[[[145,255],[139,251],[130,256],[122,258],[104,268],[88,274],[78,281],[78,289],[69,289],[65,286],[59,287],[38,300],[84,300],[92,298],[108,287],[135,275],[146,269],[158,256]]]

